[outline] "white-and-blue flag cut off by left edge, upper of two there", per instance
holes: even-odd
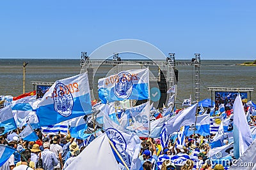
[[[10,106],[0,109],[0,135],[17,129]]]

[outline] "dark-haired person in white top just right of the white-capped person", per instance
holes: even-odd
[[[52,138],[52,144],[50,145],[50,151],[56,154],[58,159],[58,165],[56,167],[63,167],[61,153],[63,153],[62,147],[59,145],[60,136],[56,135]]]

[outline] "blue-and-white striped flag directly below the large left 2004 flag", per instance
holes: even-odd
[[[68,134],[68,121],[41,127],[42,134]]]

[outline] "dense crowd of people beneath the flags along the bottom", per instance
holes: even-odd
[[[81,139],[69,134],[46,135],[36,129],[36,141],[22,141],[16,129],[0,136],[1,144],[15,148],[17,152],[0,167],[0,170],[14,169],[66,169],[86,146]],[[143,170],[170,169],[224,169],[222,165],[212,165],[207,155],[211,136],[193,134],[186,137],[184,145],[177,144],[177,138],[170,140],[168,147],[161,148],[158,138],[141,138],[141,168]],[[84,160],[86,161],[86,160]],[[121,163],[120,169],[125,169]]]

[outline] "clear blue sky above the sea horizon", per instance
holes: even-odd
[[[0,59],[80,59],[140,39],[176,59],[256,59],[256,1],[1,1]]]

